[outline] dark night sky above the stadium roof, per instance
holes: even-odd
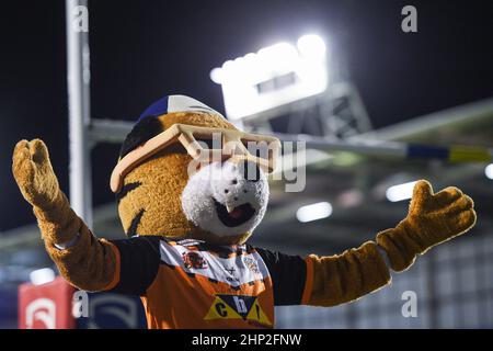
[[[419,33],[400,30],[404,4]],[[486,1],[90,1],[92,114],[134,120],[164,94],[222,110],[211,68],[305,33],[329,38],[376,127],[493,93],[493,9]],[[0,7],[0,230],[32,223],[11,176],[22,138],[43,138],[68,189],[64,1]],[[93,151],[94,202],[111,201],[118,146]],[[108,161],[110,160],[110,161]]]

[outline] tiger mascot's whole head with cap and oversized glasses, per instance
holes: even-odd
[[[183,95],[149,106],[127,135],[112,178],[127,236],[244,242],[268,201],[279,141],[242,133]]]

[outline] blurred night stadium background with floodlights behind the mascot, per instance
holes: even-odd
[[[272,181],[255,245],[301,256],[358,246],[402,219],[405,184],[422,178],[475,201],[475,228],[394,274],[391,286],[334,308],[279,307],[278,328],[493,327],[491,5],[414,1],[419,32],[403,33],[406,4],[89,1],[92,185],[82,177],[71,186],[92,197],[94,233],[124,236],[108,189],[122,136],[150,102],[182,93],[245,129],[307,141],[297,165],[306,189]],[[69,192],[70,54],[64,1],[0,12],[0,328],[16,328],[19,285],[47,281],[44,269],[56,268],[11,177],[11,151],[22,138],[43,138]],[[267,78],[252,82],[248,69]],[[406,291],[416,293],[416,317],[402,316]]]

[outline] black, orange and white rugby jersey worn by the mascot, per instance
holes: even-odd
[[[272,328],[274,306],[299,305],[311,288],[298,256],[158,236],[112,242],[112,291],[141,296],[149,328]]]

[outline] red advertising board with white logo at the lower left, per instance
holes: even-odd
[[[74,288],[61,276],[53,282],[19,286],[20,329],[72,329],[72,295]]]

